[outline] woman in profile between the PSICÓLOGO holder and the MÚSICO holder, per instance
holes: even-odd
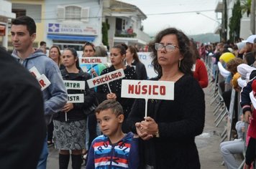
[[[125,65],[134,67],[137,74],[137,79],[147,79],[147,71],[145,65],[140,62],[137,49],[132,45],[127,48]]]

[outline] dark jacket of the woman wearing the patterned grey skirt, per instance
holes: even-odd
[[[63,76],[63,80],[77,80],[77,81],[85,81],[91,79],[91,75],[83,72],[82,69],[79,69],[78,74],[70,74],[66,69],[61,70],[61,74]],[[68,121],[78,121],[86,119],[86,114],[84,111],[88,109],[95,102],[95,92],[93,88],[89,88],[86,82],[86,87],[84,90],[68,90],[68,94],[84,94],[84,102],[83,103],[73,103],[73,110],[67,113]],[[54,120],[65,121],[65,113],[58,112],[57,115],[53,117]]]

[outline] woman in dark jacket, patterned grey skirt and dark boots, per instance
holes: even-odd
[[[69,97],[68,103],[63,107],[62,112],[58,112],[53,119],[55,147],[60,150],[60,168],[68,168],[70,150],[72,152],[72,167],[81,168],[81,153],[85,148],[84,139],[86,137],[86,109],[90,107],[96,96],[94,89],[90,89],[86,82],[91,79],[91,75],[83,72],[78,67],[78,54],[75,49],[64,49],[63,64],[65,69],[61,71],[64,80],[76,80],[85,83],[85,89],[68,90],[68,94],[83,94],[83,102],[73,103]],[[67,87],[67,82],[65,83]]]

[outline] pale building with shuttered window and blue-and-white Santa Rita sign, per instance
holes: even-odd
[[[82,50],[85,42],[102,42],[103,0],[45,0],[47,46]]]

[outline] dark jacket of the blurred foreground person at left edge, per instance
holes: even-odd
[[[34,169],[46,135],[37,79],[0,49],[0,168]]]

